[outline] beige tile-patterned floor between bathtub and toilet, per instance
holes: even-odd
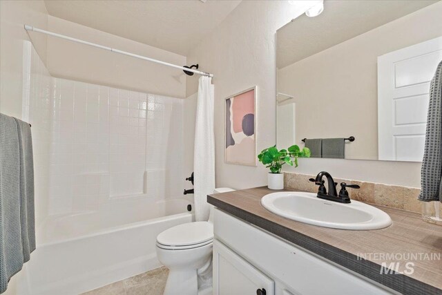
[[[83,295],[162,295],[168,274],[169,270],[166,267],[160,267]]]

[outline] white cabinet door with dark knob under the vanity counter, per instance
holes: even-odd
[[[274,288],[273,280],[218,240],[213,241],[214,295],[273,295]]]

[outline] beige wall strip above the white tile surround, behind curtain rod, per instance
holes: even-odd
[[[171,64],[186,64],[186,57],[182,55],[57,17],[48,17],[48,30]],[[34,38],[39,33],[30,34]],[[48,70],[53,77],[143,93],[186,97],[186,75],[182,70],[55,37],[48,37]]]

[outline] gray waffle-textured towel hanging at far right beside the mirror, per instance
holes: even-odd
[[[430,84],[419,200],[442,201],[442,61]]]

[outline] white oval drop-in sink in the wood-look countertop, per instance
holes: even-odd
[[[384,211],[352,200],[342,204],[316,197],[316,193],[283,191],[262,197],[265,209],[285,218],[333,229],[383,229],[392,224]]]

